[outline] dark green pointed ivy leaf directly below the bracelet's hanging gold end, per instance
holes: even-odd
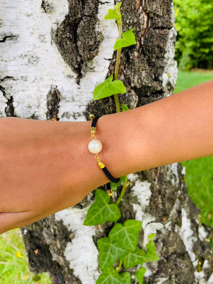
[[[107,221],[116,222],[121,217],[116,203],[110,203],[107,192],[98,188],[95,192],[95,202],[90,206],[83,225],[103,224]]]

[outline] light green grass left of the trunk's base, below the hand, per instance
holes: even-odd
[[[0,283],[51,284],[47,273],[35,275],[29,271],[19,229],[0,235]]]

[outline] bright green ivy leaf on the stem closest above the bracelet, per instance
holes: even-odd
[[[113,81],[113,74],[110,75],[107,80],[96,86],[93,98],[94,100],[100,100],[110,97],[114,94],[125,94],[126,88],[121,80]]]

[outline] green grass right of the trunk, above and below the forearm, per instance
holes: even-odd
[[[212,72],[179,71],[175,93],[213,79]],[[188,194],[201,210],[200,221],[213,226],[213,156],[183,162]]]

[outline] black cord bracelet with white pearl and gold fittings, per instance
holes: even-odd
[[[101,116],[94,116],[94,114],[90,115],[90,119],[92,120],[92,125],[91,125],[91,140],[90,143],[88,144],[88,149],[90,150],[91,153],[95,154],[95,160],[98,162],[99,167],[102,169],[104,172],[105,176],[113,182],[113,183],[118,183],[120,181],[120,178],[116,179],[112,176],[112,174],[109,172],[107,167],[104,165],[104,163],[100,160],[100,157],[98,156],[98,153],[102,150],[102,144],[99,140],[95,139],[95,133],[96,133],[96,122]],[[107,183],[107,193],[109,196],[113,195],[113,191],[110,186],[110,182]]]

